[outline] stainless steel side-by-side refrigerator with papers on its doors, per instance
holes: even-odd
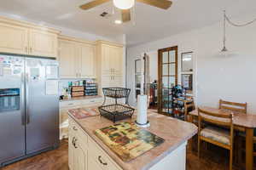
[[[0,54],[0,167],[59,145],[58,63]]]

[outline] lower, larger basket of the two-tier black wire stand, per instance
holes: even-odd
[[[131,118],[135,109],[126,105],[102,105],[99,108],[101,116],[108,118],[109,120],[116,122],[126,118]]]

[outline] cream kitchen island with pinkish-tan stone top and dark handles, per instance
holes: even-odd
[[[96,129],[111,126],[113,122],[103,116],[77,119],[71,113],[68,115],[68,164],[71,170],[185,170],[186,144],[197,133],[197,127],[192,123],[148,111],[151,126],[144,129],[165,139],[165,142],[131,161],[122,161],[95,133]],[[134,122],[135,118],[122,122]]]

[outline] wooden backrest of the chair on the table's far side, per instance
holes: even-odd
[[[237,103],[219,99],[219,109],[247,114],[247,103]]]

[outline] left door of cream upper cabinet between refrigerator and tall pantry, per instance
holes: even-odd
[[[78,76],[77,65],[79,64],[76,44],[61,40],[59,41],[59,47],[60,77],[76,78]]]

